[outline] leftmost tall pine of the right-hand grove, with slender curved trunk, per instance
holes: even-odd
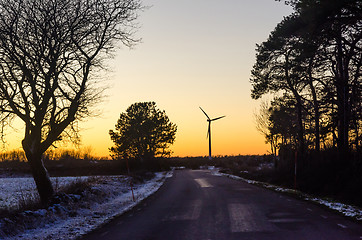
[[[291,35],[299,26],[295,16],[285,18],[270,34],[268,40],[257,48],[257,61],[252,70],[252,97],[260,98],[267,92],[284,91],[296,100],[296,117],[298,126],[298,148],[301,156],[305,150],[303,110],[304,100],[301,96],[303,78],[296,59],[299,57],[300,41]]]

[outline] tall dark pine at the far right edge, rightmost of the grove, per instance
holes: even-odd
[[[352,109],[361,99],[362,4],[357,0],[300,0],[295,8],[319,47],[326,49],[337,105],[337,146],[343,160],[350,148]]]

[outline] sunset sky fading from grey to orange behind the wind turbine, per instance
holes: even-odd
[[[109,130],[135,102],[155,101],[178,126],[173,156],[206,156],[206,116],[212,122],[213,155],[265,154],[256,130],[250,71],[257,43],[292,12],[274,0],[144,0],[135,34],[141,42],[120,46],[108,61],[107,97],[99,116],[79,124],[81,148],[108,156]],[[21,129],[8,134],[7,148],[20,148]]]

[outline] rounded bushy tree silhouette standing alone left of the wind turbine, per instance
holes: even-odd
[[[174,143],[177,127],[155,102],[134,103],[121,113],[116,131],[109,134],[115,146],[113,158],[133,158],[141,161],[169,156],[168,147]]]

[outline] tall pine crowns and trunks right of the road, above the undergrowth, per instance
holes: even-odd
[[[339,159],[348,159],[350,147],[359,151],[361,146],[362,4],[357,0],[287,2],[295,12],[257,47],[252,97],[293,96],[301,152],[309,148],[304,143],[307,137],[314,139],[316,152],[321,137],[323,143],[332,138]]]

